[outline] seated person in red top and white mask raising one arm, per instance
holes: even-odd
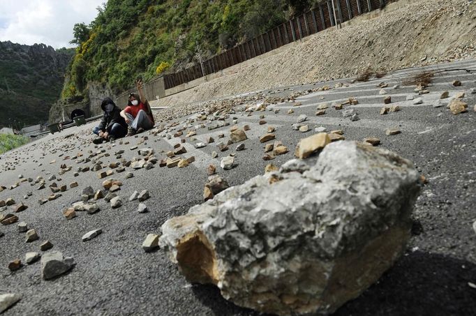
[[[137,93],[129,94],[128,106],[121,111],[121,116],[124,117],[128,124],[127,136],[141,133],[144,130],[150,130],[154,127],[154,115],[152,115],[149,102],[142,91],[142,81],[137,80]]]

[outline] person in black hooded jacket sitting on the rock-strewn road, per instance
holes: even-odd
[[[101,103],[101,108],[104,115],[99,126],[93,128],[93,133],[99,136],[96,140],[93,140],[94,144],[107,141],[114,142],[117,138],[126,136],[127,123],[120,114],[121,110],[111,98],[105,98]]]

